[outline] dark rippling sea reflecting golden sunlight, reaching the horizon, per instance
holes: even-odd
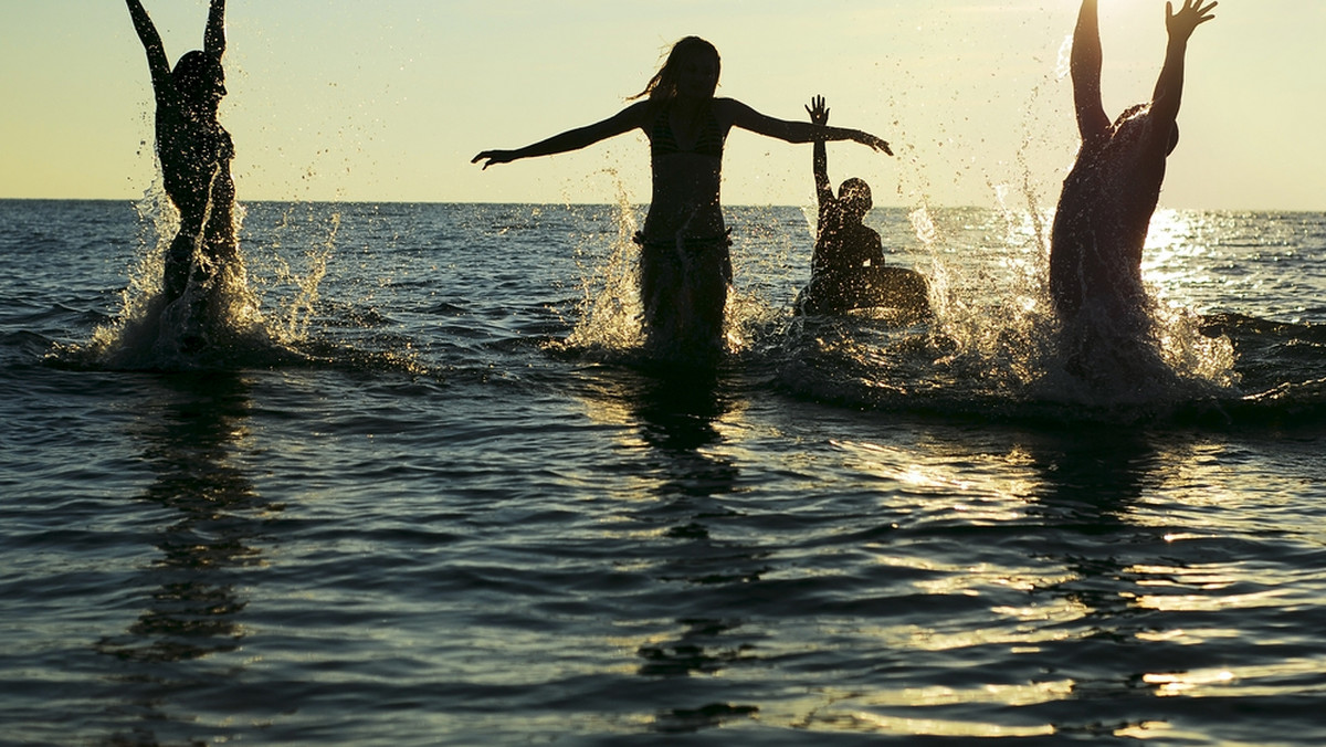
[[[0,200],[0,743],[1326,743],[1326,215],[1162,211],[1077,375],[1044,215],[876,210],[935,320],[716,370],[622,206],[245,206],[204,353],[150,200]]]

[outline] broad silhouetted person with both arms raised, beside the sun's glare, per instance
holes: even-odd
[[[1050,295],[1065,321],[1087,306],[1093,318],[1140,328],[1146,324],[1142,247],[1160,198],[1166,158],[1179,142],[1188,38],[1215,16],[1216,3],[1166,3],[1168,46],[1150,103],[1123,111],[1113,123],[1101,103],[1101,33],[1097,0],[1083,0],[1073,32],[1073,98],[1082,147],[1063,180],[1050,236]]]

